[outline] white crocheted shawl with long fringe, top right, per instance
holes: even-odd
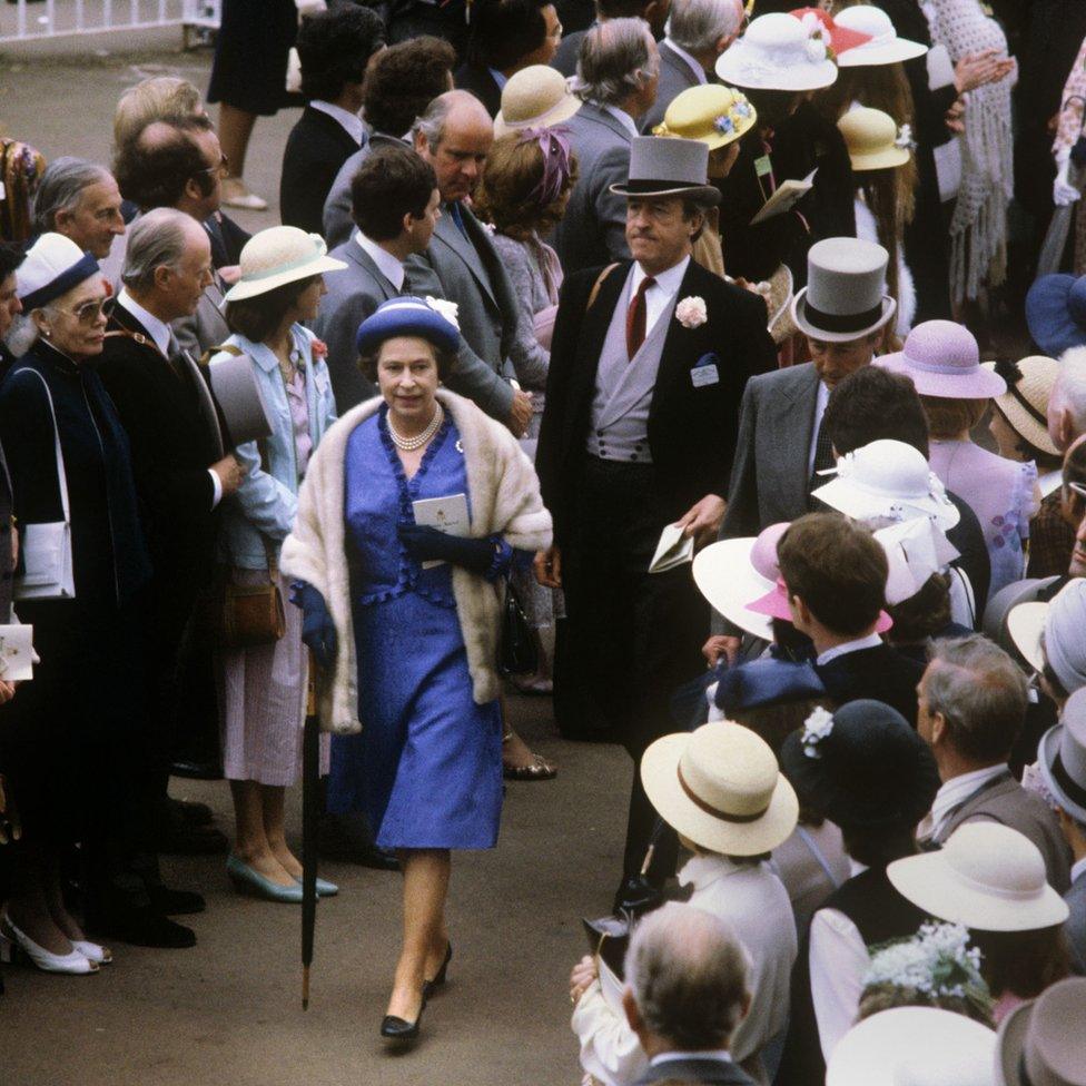
[[[968,53],[998,49],[1007,39],[978,0],[929,0],[932,40],[957,63]],[[961,188],[950,220],[950,289],[955,304],[1007,277],[1007,208],[1014,194],[1010,90],[1015,73],[969,91],[961,140]]]

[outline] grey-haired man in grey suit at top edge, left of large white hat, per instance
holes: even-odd
[[[641,131],[652,135],[668,107],[684,90],[713,78],[717,58],[735,40],[743,24],[741,0],[674,0],[668,36],[660,42],[660,86]]]

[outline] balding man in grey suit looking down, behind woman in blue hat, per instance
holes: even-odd
[[[519,304],[490,234],[465,203],[493,141],[490,115],[466,90],[438,96],[418,118],[415,150],[437,176],[442,217],[426,250],[407,260],[407,274],[419,296],[440,295],[460,307],[464,347],[450,387],[520,436],[532,418],[532,397],[505,377]]]

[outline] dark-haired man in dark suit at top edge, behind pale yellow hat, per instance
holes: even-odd
[[[502,108],[510,76],[531,65],[549,65],[562,38],[551,0],[475,0],[467,63],[456,86],[473,93],[491,118]]]

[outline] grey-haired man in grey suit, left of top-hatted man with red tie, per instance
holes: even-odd
[[[655,101],[659,72],[642,19],[609,19],[588,31],[572,85],[584,105],[564,122],[579,174],[552,238],[566,276],[630,259],[626,204],[612,186],[625,184],[638,118]]]

